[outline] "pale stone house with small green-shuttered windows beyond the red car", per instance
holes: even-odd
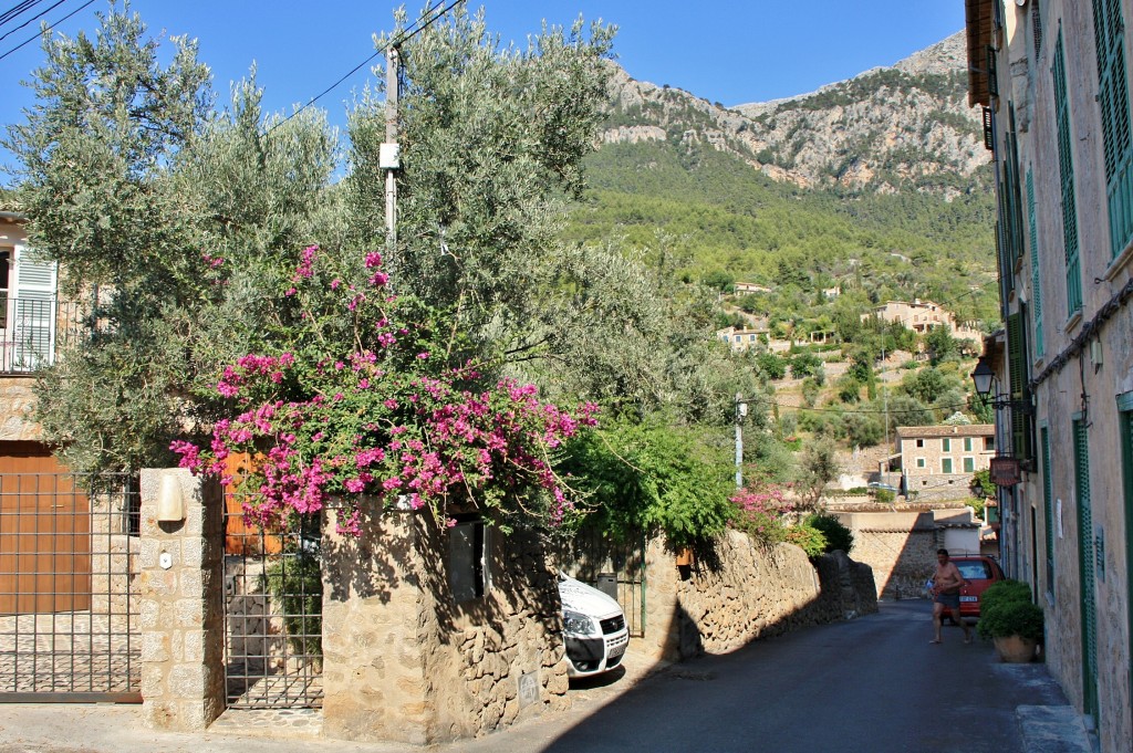
[[[900,426],[901,485],[919,499],[962,499],[995,456],[995,425]]]

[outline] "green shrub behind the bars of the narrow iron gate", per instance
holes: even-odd
[[[323,656],[323,576],[317,554],[299,550],[272,557],[265,573],[267,591],[281,605],[291,649],[305,657]]]

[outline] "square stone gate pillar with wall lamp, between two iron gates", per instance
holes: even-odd
[[[167,480],[169,479],[169,480]],[[162,486],[185,517],[159,521]],[[185,469],[142,471],[142,716],[201,730],[224,710],[223,491]]]

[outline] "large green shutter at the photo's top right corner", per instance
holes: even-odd
[[[1093,33],[1098,53],[1097,100],[1101,110],[1110,256],[1121,254],[1133,239],[1133,139],[1130,135],[1124,27],[1121,3],[1093,1]]]

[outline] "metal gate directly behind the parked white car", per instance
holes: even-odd
[[[617,599],[632,638],[645,636],[645,548],[644,534],[619,542],[582,530],[559,549],[568,574]]]

